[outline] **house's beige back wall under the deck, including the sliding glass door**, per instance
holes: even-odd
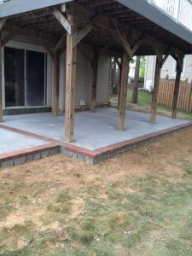
[[[14,38],[2,49],[4,113],[47,111],[53,106],[53,61],[38,40]],[[64,110],[65,52],[60,56],[59,108]],[[102,55],[97,72],[97,105],[108,105],[110,57]],[[76,108],[89,108],[91,102],[91,64],[78,50]]]

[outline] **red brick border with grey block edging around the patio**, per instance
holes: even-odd
[[[71,143],[65,143],[60,140],[44,137],[36,133],[22,131],[20,129],[16,129],[7,125],[0,125],[0,128],[2,129],[14,131],[28,137],[34,137],[48,143],[43,146],[28,148],[26,150],[19,150],[9,154],[0,154],[0,167],[15,166],[29,160],[36,160],[53,154],[64,154],[68,157],[83,160],[84,162],[88,162],[90,164],[96,164],[102,160],[107,160],[110,157],[125,153],[133,148],[142,146],[143,144],[153,143],[154,141],[160,140],[164,137],[171,136],[172,133],[190,129],[191,127],[192,122],[188,122],[183,125],[177,125],[162,131],[156,131],[141,137],[123,141],[121,143],[114,143],[107,147],[90,150],[73,145]]]

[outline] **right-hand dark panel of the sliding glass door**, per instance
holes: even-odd
[[[45,55],[26,50],[26,106],[45,105]]]

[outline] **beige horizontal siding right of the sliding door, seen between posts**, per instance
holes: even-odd
[[[65,79],[63,79],[63,70],[65,76],[65,55],[64,52],[60,59],[60,109],[65,108]],[[91,63],[88,61],[82,51],[78,49],[77,57],[77,83],[75,88],[76,101],[75,107],[81,108],[80,102],[83,101],[85,106],[89,106],[91,102],[92,87],[92,69]],[[96,84],[96,103],[108,104],[109,93],[109,74],[110,74],[110,58],[102,55],[98,61],[97,84]]]

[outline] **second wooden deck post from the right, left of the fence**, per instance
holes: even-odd
[[[154,124],[156,121],[157,100],[158,100],[159,85],[160,85],[161,63],[162,63],[162,55],[157,55],[155,73],[154,73],[154,93],[153,93],[153,97],[152,97],[151,114],[150,114],[150,123],[151,124]]]

